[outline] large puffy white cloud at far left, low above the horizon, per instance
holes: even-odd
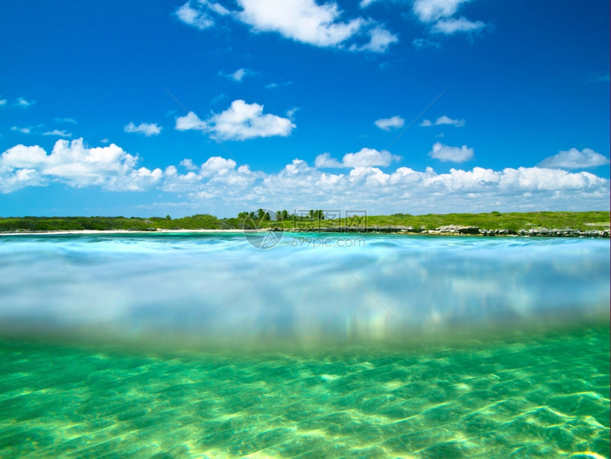
[[[141,191],[161,179],[160,169],[136,169],[138,157],[117,145],[88,148],[82,138],[58,140],[50,155],[38,145],[16,145],[0,155],[0,192],[60,182],[110,191]]]

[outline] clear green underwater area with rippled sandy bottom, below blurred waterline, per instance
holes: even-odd
[[[609,338],[178,356],[4,342],[0,455],[608,458]]]

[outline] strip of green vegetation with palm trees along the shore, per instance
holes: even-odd
[[[274,213],[272,213],[274,214]],[[261,218],[259,218],[261,215]],[[272,219],[272,217],[274,219]],[[264,209],[240,212],[237,218],[217,219],[210,214],[197,214],[183,219],[151,217],[23,217],[0,218],[0,231],[75,231],[75,230],[126,230],[153,231],[156,229],[233,229],[233,228],[316,228],[338,226],[404,226],[429,230],[440,226],[477,226],[485,229],[508,229],[519,231],[531,228],[574,229],[579,231],[601,230],[608,228],[608,211],[590,212],[509,212],[498,211],[490,214],[392,214],[389,216],[359,216],[347,219],[325,219],[322,210],[310,210],[305,215],[290,215],[288,211],[278,211],[270,216]]]

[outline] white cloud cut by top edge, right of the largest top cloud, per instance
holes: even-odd
[[[470,21],[465,17],[455,18],[461,5],[470,0],[415,0],[413,13],[436,33],[451,35],[457,32],[475,32],[485,27],[481,21]]]

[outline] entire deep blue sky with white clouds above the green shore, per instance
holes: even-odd
[[[604,210],[608,2],[0,5],[0,215]]]

